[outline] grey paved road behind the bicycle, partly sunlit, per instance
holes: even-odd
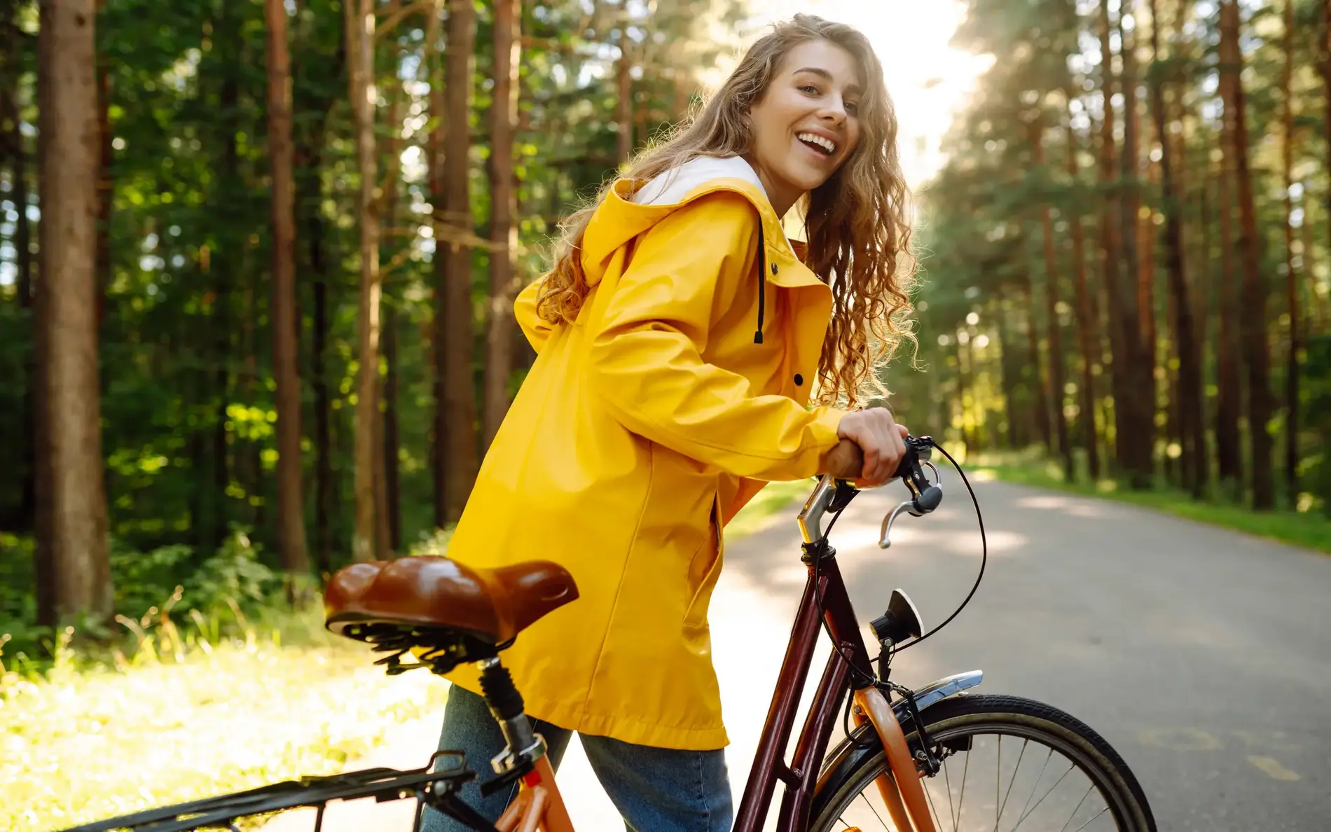
[[[945,475],[945,487],[944,507],[904,518],[890,551],[877,528],[898,486],[860,495],[837,523],[862,622],[898,586],[926,627],[965,596],[980,540],[960,482]],[[1331,832],[1331,556],[1113,502],[994,482],[977,493],[985,582],[946,630],[902,654],[896,680],[980,668],[980,691],[1074,714],[1137,771],[1162,831]],[[792,507],[732,544],[712,602],[736,804],[803,588],[796,542]],[[419,765],[437,732],[437,720],[403,726],[357,765]],[[579,828],[622,828],[576,743],[560,785]],[[407,829],[399,808],[326,828]]]

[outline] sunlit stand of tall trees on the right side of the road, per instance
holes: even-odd
[[[968,12],[997,60],[920,196],[904,409],[1066,481],[1331,510],[1331,3]]]

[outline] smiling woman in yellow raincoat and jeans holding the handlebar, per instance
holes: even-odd
[[[868,40],[797,16],[567,220],[516,301],[538,358],[449,555],[548,559],[578,582],[503,662],[551,761],[578,731],[631,829],[731,828],[707,626],[721,527],[767,482],[820,473],[840,438],[862,447],[864,485],[904,454],[889,411],[857,407],[909,337],[905,196]],[[797,202],[807,254],[781,230]],[[474,671],[450,679],[441,748],[483,764],[503,739]],[[463,797],[495,819],[511,793]],[[426,828],[461,827],[430,812]]]

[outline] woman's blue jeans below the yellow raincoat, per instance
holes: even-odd
[[[550,764],[558,769],[572,731],[540,720],[535,720],[532,728],[546,739]],[[724,751],[652,748],[587,733],[580,739],[587,761],[630,832],[729,832],[731,784]],[[494,776],[490,759],[503,751],[503,733],[486,700],[453,686],[439,748],[466,752],[467,765],[480,780]],[[494,823],[516,793],[515,784],[482,797],[476,781],[471,781],[462,787],[459,796]],[[465,832],[466,827],[427,808],[421,829]]]

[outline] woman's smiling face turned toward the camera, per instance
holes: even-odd
[[[855,57],[831,41],[805,41],[781,60],[749,109],[753,149],[747,156],[777,216],[855,153],[862,89]]]

